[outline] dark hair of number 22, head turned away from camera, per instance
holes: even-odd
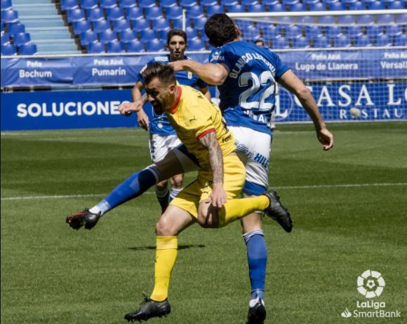
[[[205,34],[209,43],[217,48],[237,37],[234,21],[225,13],[215,13],[209,17],[205,24]]]

